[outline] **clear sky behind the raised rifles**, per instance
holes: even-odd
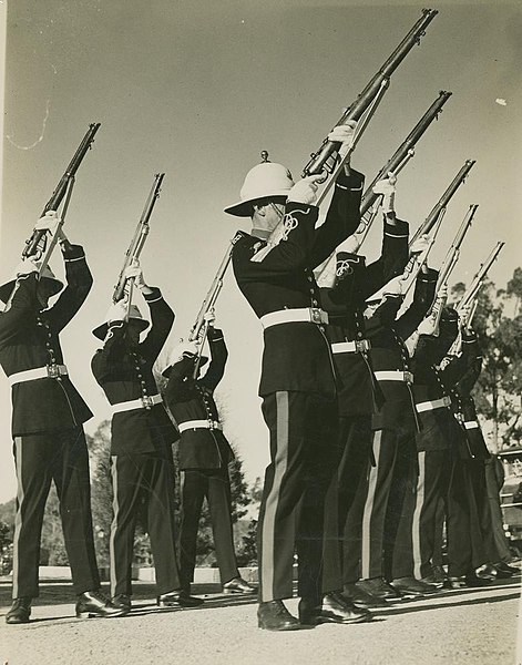
[[[85,247],[93,289],[61,339],[70,375],[109,416],[90,371],[124,253],[153,176],[165,172],[142,253],[145,279],[187,336],[228,241],[248,221],[225,215],[267,150],[295,177],[421,14],[423,2],[307,0],[16,0],[7,4],[0,278],[17,265],[89,123],[101,122],[76,177],[65,232]],[[522,6],[439,1],[439,14],[391,79],[354,155],[371,182],[440,90],[439,120],[399,176],[396,205],[414,229],[467,158],[477,160],[448,208],[440,265],[471,203],[473,228],[454,272],[469,280],[499,239],[491,270],[505,286],[521,262]],[[1,61],[0,61],[1,64]],[[365,253],[379,252],[379,228]],[[62,274],[57,253],[53,269]],[[143,303],[139,306],[145,311]],[[257,385],[262,329],[227,275],[216,308],[229,361],[216,397],[247,479],[263,475],[267,431]],[[13,497],[10,397],[0,377],[0,501]]]

